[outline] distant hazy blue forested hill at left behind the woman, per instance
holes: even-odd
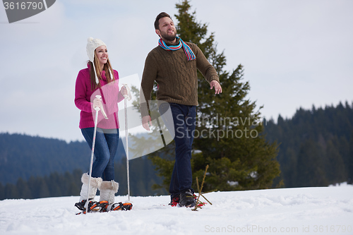
[[[125,155],[121,147],[116,161]],[[27,181],[31,176],[47,176],[55,171],[85,171],[89,164],[90,147],[85,142],[0,133],[1,183],[16,183],[19,178]]]

